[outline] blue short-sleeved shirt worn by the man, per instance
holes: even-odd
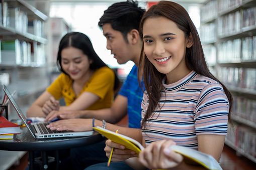
[[[141,82],[143,90],[139,86],[137,72],[138,68],[134,65],[119,92],[120,95],[128,99],[128,122],[129,127],[132,128],[140,128],[141,101],[145,89],[143,81]]]

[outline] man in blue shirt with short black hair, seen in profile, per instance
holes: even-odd
[[[137,79],[137,66],[139,64],[143,42],[138,28],[144,12],[145,10],[138,7],[136,1],[129,0],[127,2],[115,3],[104,11],[104,15],[100,18],[99,26],[102,28],[103,34],[107,39],[107,49],[111,51],[111,54],[114,55],[114,58],[117,59],[119,64],[133,61],[135,65],[127,76],[111,108],[58,112],[57,116],[63,119],[86,118],[79,120],[81,124],[79,124],[77,119],[75,123],[65,123],[66,130],[74,130],[71,126],[84,127],[81,130],[92,130],[92,124],[103,126],[102,120],[106,120],[108,122],[106,129],[112,131],[118,129],[121,134],[131,136],[138,141],[142,140],[142,136],[133,136],[133,134],[136,134],[134,131],[140,130],[141,121],[143,90],[139,86]],[[142,84],[143,87],[144,85]],[[114,125],[114,123],[125,117],[126,114],[128,114],[129,128]],[[64,123],[65,120],[60,121]],[[60,121],[54,122],[52,127],[60,125],[58,123]],[[73,168],[83,169],[91,164],[107,162],[108,158],[104,148],[105,141],[86,147],[71,149]],[[134,155],[134,153],[131,154]]]

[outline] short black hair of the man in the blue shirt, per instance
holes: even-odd
[[[114,30],[121,32],[128,42],[127,33],[132,29],[139,30],[139,22],[144,12],[144,9],[138,7],[137,1],[115,3],[104,11],[98,25],[102,28],[104,24],[110,24]]]

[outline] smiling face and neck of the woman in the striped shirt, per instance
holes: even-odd
[[[166,75],[166,83],[177,82],[191,72],[185,61],[186,48],[193,45],[191,36],[186,38],[177,24],[165,17],[149,18],[143,28],[145,55]]]

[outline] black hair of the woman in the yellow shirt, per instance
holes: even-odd
[[[66,75],[68,75],[62,68],[61,66],[61,52],[63,49],[68,48],[68,47],[74,47],[83,52],[83,54],[86,54],[89,58],[89,60],[92,61],[92,64],[90,65],[89,69],[90,70],[96,70],[101,67],[107,66],[101,58],[96,54],[93,48],[93,44],[90,41],[89,37],[79,33],[79,32],[71,32],[67,33],[62,39],[60,40],[59,43],[59,50],[57,54],[57,66],[60,69],[60,71]],[[115,85],[114,85],[114,90],[119,88],[120,81],[117,77],[116,72],[115,73]]]

